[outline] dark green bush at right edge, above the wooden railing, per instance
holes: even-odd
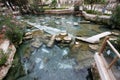
[[[111,16],[111,25],[114,26],[113,28],[120,29],[120,5],[116,6],[116,9],[113,11]]]

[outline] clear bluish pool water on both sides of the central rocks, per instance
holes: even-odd
[[[71,36],[89,37],[107,30],[92,23],[79,24],[83,19],[72,15],[27,16],[23,20],[52,35],[67,32]],[[57,45],[48,48],[43,44],[29,52],[29,57],[24,57],[27,45],[29,43],[20,46],[20,60],[16,63],[20,64],[12,67],[5,80],[86,80],[87,68],[94,61],[94,52],[83,42],[80,42],[80,47],[62,48]]]

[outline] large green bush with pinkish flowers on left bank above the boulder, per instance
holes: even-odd
[[[10,16],[0,15],[0,26],[6,26],[5,37],[8,38],[11,43],[19,44],[23,37],[23,30],[21,25],[16,24],[17,21],[13,20]]]

